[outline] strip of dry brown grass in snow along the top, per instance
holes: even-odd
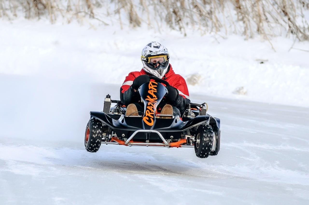
[[[109,5],[114,10],[110,11]],[[309,24],[304,12],[309,0],[0,0],[0,17],[26,19],[48,17],[97,19],[114,15],[123,27],[146,23],[149,28],[164,32],[167,25],[184,36],[193,29],[206,33],[242,34],[246,39],[260,35],[265,40],[277,35],[294,35],[309,40]]]

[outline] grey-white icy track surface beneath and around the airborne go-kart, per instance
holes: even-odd
[[[2,82],[4,79],[8,77]],[[44,82],[43,86],[48,85]],[[210,114],[221,118],[218,156],[199,159],[190,148],[105,144],[98,153],[88,153],[83,130],[89,110],[101,105],[91,107],[86,102],[101,103],[103,94],[88,93],[85,100],[72,90],[98,90],[95,86],[69,85],[51,92],[48,86],[34,90],[31,83],[25,84],[23,79],[11,78],[0,89],[15,93],[8,102],[0,103],[8,108],[1,122],[5,135],[0,136],[0,204],[309,203],[307,108],[192,95],[195,102],[207,101]],[[57,86],[50,89],[57,90]],[[116,87],[105,87],[104,92],[108,89]],[[23,102],[29,104],[18,104],[26,90]],[[52,96],[46,99],[47,94],[40,92]],[[40,98],[33,98],[34,93]],[[69,99],[78,103],[70,108],[65,104],[71,103]],[[42,117],[43,110],[49,118]],[[8,114],[12,112],[13,117]],[[2,116],[5,113],[2,110]],[[21,118],[24,113],[32,113],[32,118],[30,114]],[[69,124],[73,125],[65,129]],[[16,129],[5,129],[9,125],[21,126],[17,129],[21,139],[14,136]],[[41,133],[35,132],[42,126]]]

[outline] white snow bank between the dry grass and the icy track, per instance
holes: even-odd
[[[80,27],[45,21],[0,21],[0,73],[49,77],[120,86],[140,70],[141,49],[152,40],[164,44],[176,73],[187,79],[189,92],[259,102],[308,106],[308,52],[291,49],[293,41],[275,38],[244,41],[177,31],[154,33],[146,28]],[[294,48],[308,50],[309,43]],[[261,63],[263,62],[263,63]],[[87,92],[85,90],[85,92]],[[101,98],[102,99],[102,98]]]

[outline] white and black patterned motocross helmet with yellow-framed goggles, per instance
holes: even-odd
[[[168,71],[169,58],[167,48],[152,41],[142,50],[143,70],[151,75],[163,78]]]

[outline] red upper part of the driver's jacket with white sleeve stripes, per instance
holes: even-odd
[[[179,95],[181,95],[184,98],[190,99],[186,81],[181,75],[175,74],[171,64],[169,66],[170,66],[169,71],[164,75],[162,79],[166,80],[170,84],[170,86],[173,86],[174,88],[176,88],[179,92]],[[148,74],[148,73],[146,73],[145,70],[143,69],[141,71],[134,71],[134,72],[129,73],[129,75],[125,77],[125,81],[123,82],[121,86],[121,89],[120,89],[121,92],[124,93],[125,91],[127,91],[130,88],[130,86],[133,84],[133,81],[136,77],[140,75],[145,75],[145,74]]]

